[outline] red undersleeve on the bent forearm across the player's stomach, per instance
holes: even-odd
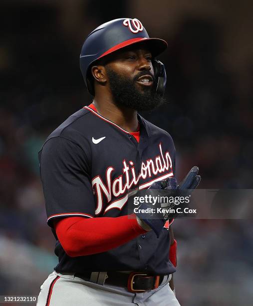
[[[55,220],[54,227],[63,249],[71,257],[105,252],[146,233],[136,218],[128,215],[66,217]]]

